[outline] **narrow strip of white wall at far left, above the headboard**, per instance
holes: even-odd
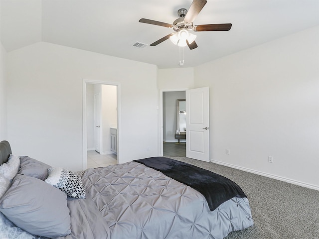
[[[6,51],[0,44],[0,140],[7,139],[6,130]]]

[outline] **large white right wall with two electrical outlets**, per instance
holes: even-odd
[[[198,66],[194,78],[210,88],[213,161],[319,189],[319,27]]]

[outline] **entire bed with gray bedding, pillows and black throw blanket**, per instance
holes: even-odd
[[[7,141],[0,143],[0,156],[0,238],[223,239],[253,225],[237,184],[225,179],[225,189],[219,185],[224,177],[176,160],[154,157],[74,173],[19,156],[18,169],[10,178],[2,169],[1,179],[1,168],[16,157]],[[52,187],[57,172],[72,185]],[[217,187],[197,182],[198,175],[217,177]],[[183,178],[187,185],[179,182]]]

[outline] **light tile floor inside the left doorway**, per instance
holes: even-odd
[[[102,155],[95,150],[89,150],[87,152],[88,168],[106,167],[109,165],[117,164],[117,155],[114,153]]]

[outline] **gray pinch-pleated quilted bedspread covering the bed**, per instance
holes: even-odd
[[[72,235],[64,239],[223,239],[253,225],[247,198],[211,212],[202,194],[137,162],[81,177],[87,199],[69,199]]]

